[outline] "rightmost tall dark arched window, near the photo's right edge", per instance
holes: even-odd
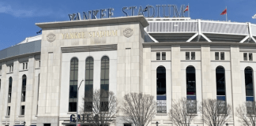
[[[254,113],[254,79],[253,69],[251,69],[250,67],[244,69],[244,80],[247,96],[247,113]]]

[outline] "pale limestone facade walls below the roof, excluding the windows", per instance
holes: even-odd
[[[124,95],[143,92],[156,97],[156,69],[166,69],[167,113],[156,113],[149,125],[172,125],[168,117],[172,100],[186,98],[186,68],[194,66],[196,100],[216,98],[216,67],[225,70],[226,102],[232,110],[246,102],[244,69],[252,68],[256,77],[255,43],[209,43],[209,42],[160,42],[145,40],[145,28],[149,25],[144,17],[122,17],[93,20],[64,21],[36,24],[43,29],[39,54],[23,54],[18,57],[0,59],[2,62],[0,80],[0,125],[62,126],[70,123],[69,91],[70,61],[78,59],[78,83],[85,80],[85,59],[93,57],[93,88],[100,89],[100,61],[104,56],[110,59],[110,91],[117,96],[120,104]],[[123,35],[126,28],[133,35]],[[111,33],[109,33],[111,32]],[[76,36],[72,36],[78,33]],[[70,35],[71,34],[71,35]],[[107,35],[108,34],[108,35]],[[55,35],[55,39],[49,38]],[[50,42],[49,42],[49,39]],[[52,41],[53,40],[53,41]],[[52,41],[52,42],[51,42]],[[166,58],[157,60],[157,53]],[[186,52],[194,52],[194,60],[186,59]],[[215,53],[224,52],[224,60],[216,60]],[[244,60],[244,53],[252,53],[252,61]],[[162,57],[162,56],[161,56]],[[23,69],[28,63],[28,69]],[[22,76],[27,76],[25,102],[21,102]],[[12,77],[11,102],[9,78]],[[85,93],[81,83],[79,96]],[[254,90],[256,88],[254,87]],[[254,91],[254,96],[255,96]],[[82,101],[82,97],[79,97]],[[21,115],[21,106],[25,106]],[[82,103],[79,102],[79,106]],[[10,113],[7,114],[8,107]],[[117,125],[122,126],[122,113]],[[204,125],[198,112],[192,125]],[[239,126],[237,117],[232,115],[228,124]]]

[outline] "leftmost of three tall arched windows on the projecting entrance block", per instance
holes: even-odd
[[[76,57],[73,57],[70,61],[69,112],[77,111],[77,76],[78,76],[78,59]]]

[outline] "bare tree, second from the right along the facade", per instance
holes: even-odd
[[[203,100],[199,110],[202,113],[202,120],[209,126],[223,125],[232,115],[232,106],[216,99]]]

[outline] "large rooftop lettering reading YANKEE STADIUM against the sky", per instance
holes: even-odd
[[[146,6],[143,8],[142,6],[125,6],[122,7],[122,13],[126,16],[138,16],[143,15],[145,17],[184,17],[184,8],[185,5],[182,5],[180,9],[176,5],[156,5],[156,6]],[[160,11],[160,8],[162,11]],[[98,19],[98,18],[111,18],[114,16],[113,8],[109,9],[95,9],[89,10],[88,12],[83,12],[82,15],[80,13],[72,13],[69,14],[70,20],[90,20],[90,19]],[[160,14],[162,13],[162,14]],[[81,17],[82,16],[82,17]]]

